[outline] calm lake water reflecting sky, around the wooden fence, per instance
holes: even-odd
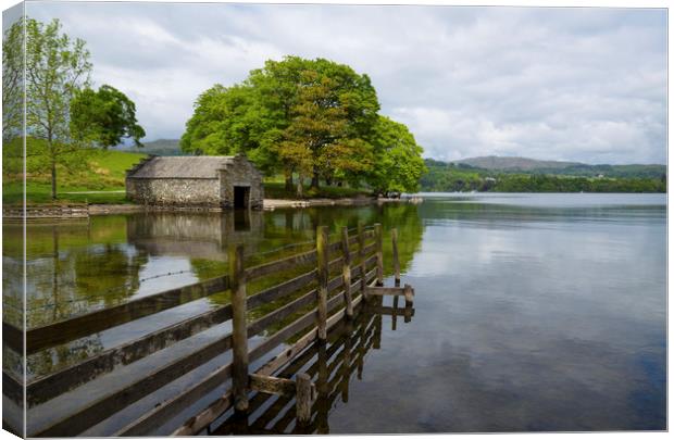
[[[360,379],[357,372],[344,374],[348,398],[325,406],[324,432],[665,429],[665,196],[424,197],[419,205],[32,225],[29,327],[217,275],[233,241],[259,253],[311,240],[317,224],[337,230],[359,219],[382,222],[385,237],[399,228],[415,315],[409,323],[398,318],[395,331],[391,316],[363,317],[378,323],[378,348],[364,352]],[[4,227],[5,272],[20,261],[20,242],[10,239],[15,232]],[[7,276],[3,282],[5,292],[16,288]],[[37,353],[29,375],[222,301],[196,301]],[[90,433],[113,432],[154,403],[146,399]],[[35,418],[48,418],[55,406],[34,408]]]

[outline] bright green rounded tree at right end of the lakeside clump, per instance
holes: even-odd
[[[375,161],[369,183],[379,193],[419,191],[419,180],[427,172],[424,151],[403,124],[379,116],[372,143]]]

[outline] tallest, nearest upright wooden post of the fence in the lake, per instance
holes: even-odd
[[[232,291],[232,391],[234,407],[248,410],[248,329],[246,325],[246,269],[244,246],[229,247]]]

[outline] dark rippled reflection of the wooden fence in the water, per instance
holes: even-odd
[[[299,423],[296,416],[295,398],[255,393],[250,400],[248,414],[236,414],[232,410],[216,422],[214,436],[224,435],[280,435],[280,433],[330,433],[329,413],[337,402],[349,402],[352,380],[363,379],[365,356],[372,350],[382,348],[384,315],[396,327],[398,316],[410,322],[412,306],[383,307],[383,299],[373,298],[363,306],[355,319],[344,320],[328,335],[328,341],[314,342],[276,376],[295,378],[307,373],[316,387],[316,400],[308,423]],[[398,398],[391,390],[390,399]]]

